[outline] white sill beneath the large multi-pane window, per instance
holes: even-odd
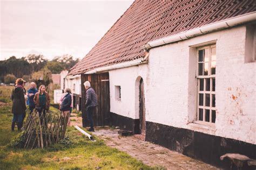
[[[194,121],[192,123],[188,123],[187,126],[188,126],[188,129],[190,130],[202,132],[206,134],[215,135],[215,131],[216,131],[214,123]]]

